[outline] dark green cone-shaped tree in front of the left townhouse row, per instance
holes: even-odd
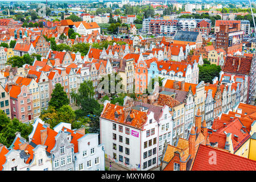
[[[51,94],[51,100],[49,101],[49,106],[55,107],[59,110],[63,105],[69,105],[69,99],[67,94],[64,92],[64,87],[57,83]]]

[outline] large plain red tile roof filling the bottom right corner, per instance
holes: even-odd
[[[256,161],[200,144],[192,171],[256,171]]]

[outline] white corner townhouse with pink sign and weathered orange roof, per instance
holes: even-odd
[[[158,125],[167,126],[167,130],[162,131],[166,134],[162,143],[171,143],[171,114],[167,106],[134,103],[129,97],[125,98],[124,106],[105,101],[100,129],[107,158],[132,170],[157,167],[159,152],[162,153],[162,145],[160,148],[158,145]]]

